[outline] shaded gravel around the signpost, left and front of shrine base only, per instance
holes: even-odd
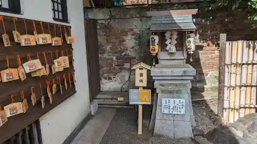
[[[117,112],[106,130],[100,144],[194,143],[193,140],[188,139],[167,139],[153,137],[153,131],[148,130],[151,109],[152,107],[150,105],[143,106],[143,131],[141,136],[137,134],[135,109],[117,109]]]

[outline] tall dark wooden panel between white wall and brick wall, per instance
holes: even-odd
[[[96,19],[85,20],[85,40],[89,95],[92,100],[101,91]]]

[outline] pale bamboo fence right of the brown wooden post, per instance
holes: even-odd
[[[223,42],[221,92],[225,124],[256,112],[257,40]]]

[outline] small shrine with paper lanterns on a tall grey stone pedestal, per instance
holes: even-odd
[[[159,64],[151,69],[158,98],[154,101],[154,135],[169,138],[192,138],[195,126],[191,103],[191,79],[195,69],[186,64],[187,53],[195,51],[196,29],[193,10],[151,11],[150,50]]]

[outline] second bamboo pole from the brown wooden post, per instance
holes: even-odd
[[[230,73],[230,95],[229,95],[229,107],[232,108],[229,110],[229,122],[234,122],[234,107],[235,107],[235,77],[236,77],[236,52],[237,52],[237,42],[232,42],[232,51],[231,51],[231,73]]]

